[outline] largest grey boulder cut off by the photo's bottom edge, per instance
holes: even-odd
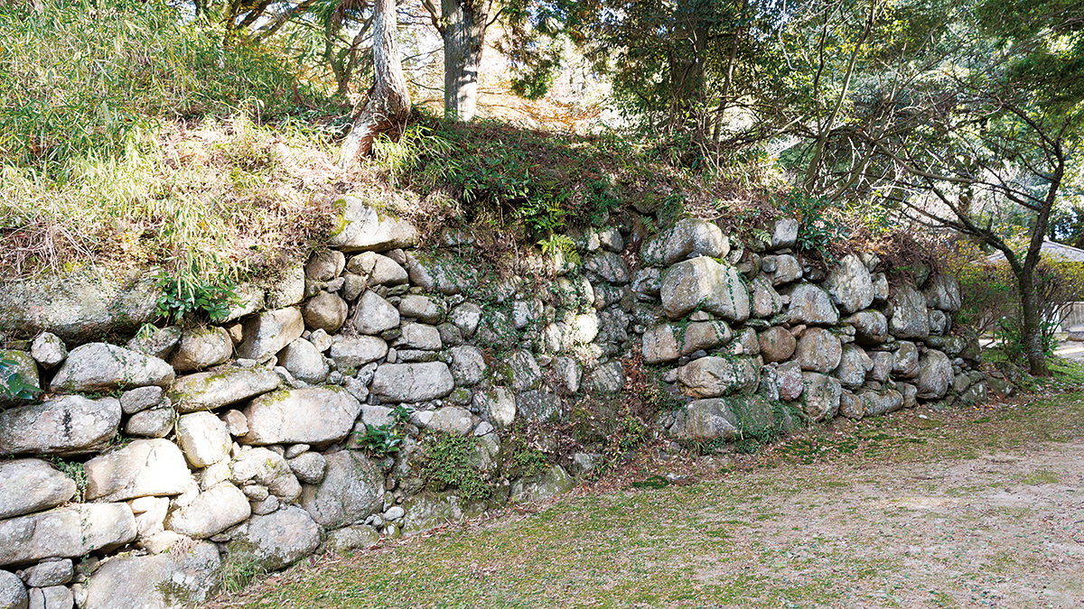
[[[106,560],[87,580],[79,609],[179,609],[207,600],[221,562],[209,542],[152,556]]]

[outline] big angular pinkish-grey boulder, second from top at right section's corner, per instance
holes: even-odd
[[[734,267],[699,257],[679,262],[662,274],[662,310],[675,320],[696,309],[731,322],[749,319],[749,291]]]

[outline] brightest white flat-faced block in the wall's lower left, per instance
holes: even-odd
[[[83,464],[87,501],[127,501],[145,495],[179,495],[192,487],[189,466],[168,440],[133,440]]]

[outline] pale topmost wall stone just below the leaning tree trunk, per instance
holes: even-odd
[[[386,195],[362,193],[345,195],[332,205],[341,213],[339,230],[327,239],[327,246],[343,251],[387,251],[417,245],[414,224],[386,211],[377,211],[370,202]]]

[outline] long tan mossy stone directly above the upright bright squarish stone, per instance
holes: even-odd
[[[227,368],[182,376],[167,392],[178,412],[219,409],[274,391],[282,385],[275,373],[266,368]]]

